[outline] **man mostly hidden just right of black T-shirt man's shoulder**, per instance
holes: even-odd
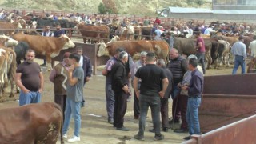
[[[171,74],[170,70],[166,68],[166,63],[163,59],[158,59],[157,65],[164,70],[166,76],[169,81],[169,85],[166,89],[166,93],[164,94],[163,98],[161,99],[161,117],[162,117],[162,131],[168,132],[169,128],[169,102],[168,99],[170,98],[171,89],[173,86],[173,74]]]

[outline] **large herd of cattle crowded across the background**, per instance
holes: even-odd
[[[165,41],[167,32],[174,37],[174,48],[180,54],[190,55],[196,54],[196,49],[194,48],[196,38],[194,38],[193,31],[200,30],[205,41],[206,67],[208,69],[211,65],[214,65],[214,68],[222,64],[230,66],[230,57],[232,57],[230,49],[234,42],[238,42],[239,35],[244,36],[247,50],[250,42],[254,40],[254,26],[246,23],[211,22],[206,24],[204,21],[140,22],[130,18],[122,20],[118,20],[118,18],[110,19],[110,17],[105,18],[105,16],[96,14],[34,15],[29,13],[20,15],[17,10],[9,13],[6,10],[1,10],[0,97],[4,93],[6,86],[8,86],[9,81],[11,84],[10,97],[14,96],[16,66],[20,64],[22,58],[25,58],[26,50],[33,49],[38,54],[44,54],[49,67],[51,58],[58,56],[60,50],[75,47],[74,42],[66,35],[60,38],[41,36],[40,33],[42,33],[43,26],[50,26],[51,30],[54,30],[56,25],[61,25],[62,28],[70,30],[77,30],[82,35],[84,43],[98,43],[98,57],[103,55],[114,56],[114,50],[122,47],[132,56],[139,54],[141,51],[153,51],[158,58],[163,58],[166,62],[169,60],[170,50],[169,44]],[[154,30],[161,31],[160,38],[162,40],[154,41],[152,39]],[[210,33],[204,32],[207,30]],[[256,60],[254,58],[249,64],[250,68],[254,68],[256,66],[255,63]],[[45,109],[43,106],[41,108]],[[29,109],[33,111],[32,107]],[[20,114],[20,111],[14,111]],[[11,113],[14,114],[13,112]],[[35,125],[39,125],[39,123]],[[0,132],[2,132],[1,129]]]

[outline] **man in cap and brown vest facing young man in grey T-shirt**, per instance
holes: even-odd
[[[69,56],[70,52],[63,55],[62,62],[59,62],[50,72],[50,82],[54,83],[54,102],[58,103],[62,108],[63,119],[66,108],[66,85],[69,70]]]

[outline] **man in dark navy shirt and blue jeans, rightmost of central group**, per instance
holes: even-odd
[[[197,69],[198,60],[191,58],[188,68],[191,71],[190,85],[182,85],[182,90],[188,91],[188,102],[186,110],[186,121],[189,127],[190,135],[185,137],[189,140],[193,134],[200,134],[200,124],[198,118],[198,107],[201,104],[201,95],[203,90],[203,74]]]

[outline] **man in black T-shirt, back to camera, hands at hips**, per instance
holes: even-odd
[[[139,99],[141,109],[139,130],[138,134],[134,135],[134,138],[141,141],[144,140],[146,114],[149,106],[154,123],[154,140],[158,141],[164,139],[164,136],[160,132],[160,104],[161,98],[163,98],[166,93],[168,78],[166,78],[164,70],[156,66],[154,62],[155,54],[151,52],[146,54],[146,66],[139,68],[134,78],[134,90]],[[140,91],[138,91],[139,78],[142,79]]]

